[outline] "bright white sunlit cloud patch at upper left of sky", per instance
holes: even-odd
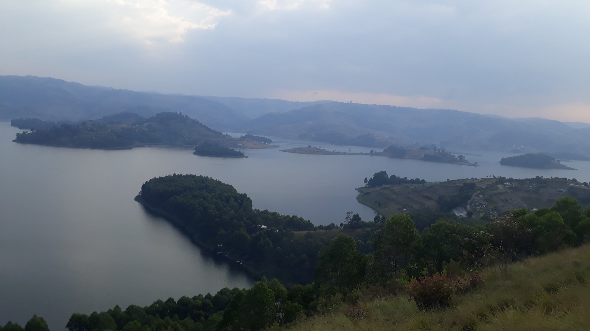
[[[191,30],[213,29],[218,18],[231,11],[186,0],[63,0],[80,10],[94,11],[117,32],[131,35],[145,44],[183,42]]]

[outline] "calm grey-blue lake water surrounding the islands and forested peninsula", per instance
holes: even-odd
[[[19,130],[0,123],[0,324],[33,314],[62,330],[71,313],[119,304],[249,287],[254,280],[203,253],[133,200],[142,184],[168,174],[202,174],[247,193],[254,207],[339,224],[346,211],[372,220],[355,187],[376,171],[427,181],[545,176],[590,181],[590,162],[573,170],[500,166],[510,153],[471,151],[481,167],[365,155],[301,155],[280,149],[307,141],[273,138],[280,148],[245,150],[249,158],[212,158],[191,150],[143,147],[103,151],[12,143]],[[322,145],[339,151],[370,148]],[[468,151],[464,151],[468,152]]]

